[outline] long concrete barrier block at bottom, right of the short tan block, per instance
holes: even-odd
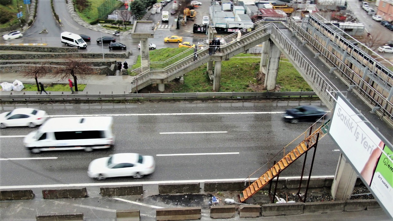
[[[200,206],[156,209],[157,221],[200,219],[201,216]]]

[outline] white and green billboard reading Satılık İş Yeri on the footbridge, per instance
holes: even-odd
[[[338,94],[329,131],[364,184],[393,217],[393,146]]]

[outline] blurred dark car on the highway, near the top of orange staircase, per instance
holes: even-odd
[[[326,110],[312,105],[304,105],[286,110],[284,120],[291,123],[299,121],[317,121],[327,113]]]

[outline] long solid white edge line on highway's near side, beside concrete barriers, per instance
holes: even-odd
[[[300,177],[280,177],[280,179],[299,179]],[[311,176],[311,178],[334,178],[334,175]],[[256,180],[257,178],[250,178]],[[51,187],[73,187],[73,186],[112,186],[112,185],[143,185],[143,184],[173,184],[173,183],[193,183],[193,182],[227,182],[244,181],[246,178],[239,179],[215,179],[215,180],[162,180],[162,181],[141,181],[141,182],[100,182],[100,183],[73,183],[73,184],[46,184],[46,185],[25,185],[25,186],[0,186],[3,189],[18,188],[51,188]],[[248,180],[248,179],[247,179]]]

